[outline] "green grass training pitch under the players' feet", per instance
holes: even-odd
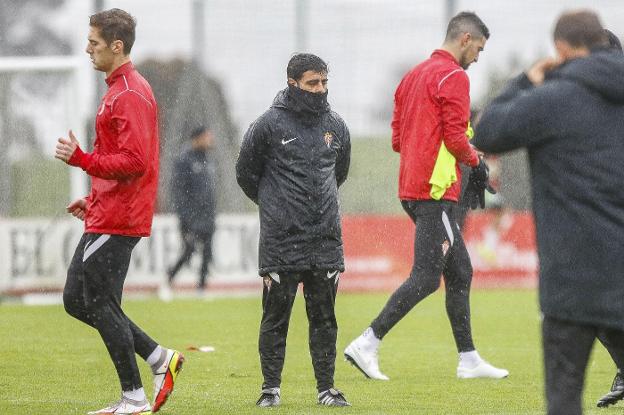
[[[456,352],[436,293],[384,340],[382,370],[389,382],[370,381],[342,359],[342,350],[385,303],[387,294],[340,294],[336,386],[351,408],[321,408],[307,345],[307,321],[298,296],[290,326],[282,405],[254,406],[261,375],[257,356],[258,298],[128,301],[133,320],[169,347],[211,345],[213,353],[185,352],[187,361],[163,414],[542,414],[539,316],[533,291],[474,291],[473,332],[481,355],[509,369],[505,380],[459,380]],[[151,375],[139,363],[151,395]],[[614,365],[601,346],[592,355],[586,414],[621,414],[624,404],[595,408]],[[62,306],[0,305],[0,414],[84,414],[118,398],[112,363],[95,331],[68,317]]]

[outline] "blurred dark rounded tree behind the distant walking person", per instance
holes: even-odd
[[[189,147],[190,133],[200,125],[215,135],[217,209],[221,212],[244,210],[246,201],[238,191],[234,163],[238,155],[239,133],[232,123],[228,104],[215,79],[196,64],[181,59],[162,62],[148,60],[137,66],[152,85],[160,110],[160,182],[158,206],[171,212],[169,200],[173,163]]]

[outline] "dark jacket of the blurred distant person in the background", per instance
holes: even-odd
[[[189,150],[173,167],[172,200],[180,225],[195,233],[214,231],[215,162],[206,151]]]

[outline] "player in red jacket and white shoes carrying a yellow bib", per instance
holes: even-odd
[[[474,347],[469,305],[472,265],[455,222],[459,163],[473,168],[471,202],[474,197],[482,201],[488,187],[487,166],[468,143],[472,129],[465,69],[477,61],[489,36],[476,14],[459,13],[449,22],[442,48],[412,69],[396,90],[392,148],[401,155],[399,198],[416,224],[414,265],[410,277],[392,294],[370,327],[345,349],[347,360],[369,378],[388,379],[377,360],[381,339],[438,289],[441,274],[459,352],[457,377],[504,378],[509,374],[483,360]]]

